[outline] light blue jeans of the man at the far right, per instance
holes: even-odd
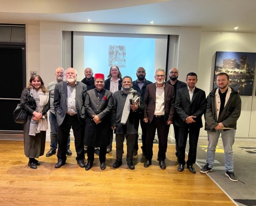
[[[224,165],[225,171],[234,171],[234,159],[232,146],[235,143],[235,129],[230,130],[216,130],[216,132],[207,132],[208,134],[208,150],[206,163],[209,163],[209,168],[214,166],[214,158],[216,146],[218,144],[218,138],[221,134],[222,144],[224,147]]]

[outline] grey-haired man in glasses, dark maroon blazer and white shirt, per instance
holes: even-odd
[[[164,83],[166,78],[164,69],[156,69],[155,83],[147,86],[144,96],[144,119],[147,123],[147,154],[144,167],[148,168],[151,165],[153,158],[153,141],[157,130],[159,139],[159,152],[157,159],[161,169],[166,169],[166,150],[167,138],[170,124],[173,121],[174,115],[174,88],[167,83]]]

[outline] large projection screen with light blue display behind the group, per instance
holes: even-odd
[[[103,73],[105,78],[112,65],[122,76],[136,80],[138,67],[146,70],[146,79],[155,82],[155,69],[166,66],[166,35],[75,33],[74,68],[78,78],[84,78],[84,68]]]

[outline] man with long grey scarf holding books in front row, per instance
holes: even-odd
[[[133,150],[135,145],[135,137],[138,130],[135,125],[138,124],[138,112],[143,111],[143,105],[139,102],[133,102],[132,99],[138,97],[139,93],[132,88],[132,78],[125,76],[122,81],[121,90],[113,94],[113,111],[111,116],[112,130],[115,131],[115,143],[117,148],[117,160],[113,164],[113,168],[119,168],[122,164],[124,139],[126,138],[127,155],[126,161],[130,170],[135,169],[132,162]]]

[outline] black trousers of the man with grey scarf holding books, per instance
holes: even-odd
[[[132,160],[136,134],[115,134],[115,143],[117,147],[117,160],[121,161],[123,158],[124,138],[126,138],[127,154],[126,161]]]

